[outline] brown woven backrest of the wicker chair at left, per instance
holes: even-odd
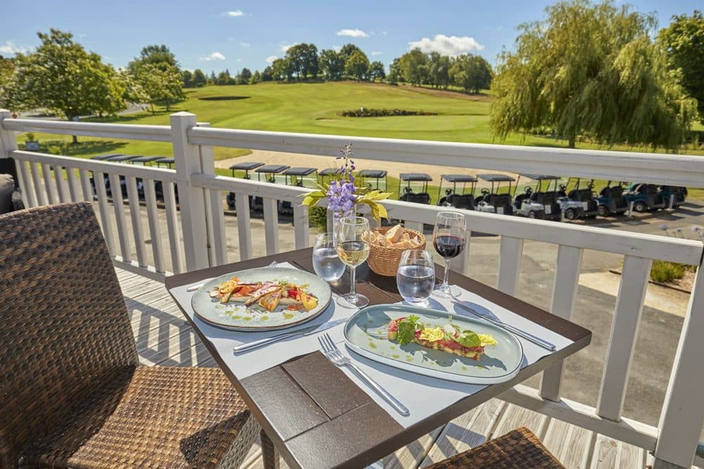
[[[0,216],[0,468],[137,366],[89,203]]]

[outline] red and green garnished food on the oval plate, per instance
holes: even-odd
[[[449,354],[481,360],[484,347],[496,345],[491,334],[477,334],[473,330],[460,330],[459,326],[448,322],[444,326],[428,326],[418,322],[418,316],[394,319],[389,323],[389,340],[400,345],[415,342],[422,347],[441,350]]]

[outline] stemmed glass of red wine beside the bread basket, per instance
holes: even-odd
[[[445,275],[440,285],[433,290],[435,296],[453,298],[460,295],[460,290],[448,283],[450,261],[465,249],[466,221],[465,216],[456,212],[439,212],[433,229],[433,246],[437,253],[445,259]]]

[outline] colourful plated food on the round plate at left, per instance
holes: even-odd
[[[289,311],[305,309],[310,311],[318,306],[318,298],[306,292],[308,285],[296,285],[288,281],[246,282],[233,277],[220,283],[210,291],[210,297],[220,303],[244,303],[245,307],[258,304],[266,311],[274,311],[279,305]]]

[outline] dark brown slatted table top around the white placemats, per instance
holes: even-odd
[[[313,250],[307,248],[258,257],[170,276],[166,278],[165,284],[166,288],[171,290],[232,271],[267,266],[274,260],[279,263],[289,262],[312,272],[312,254]],[[441,274],[442,268],[436,266],[436,269],[439,269],[438,273]],[[348,285],[347,275],[345,274],[340,282],[340,285],[344,285],[342,288]],[[378,461],[401,446],[496,397],[513,385],[557,364],[591,342],[589,330],[532,304],[455,272],[451,272],[450,281],[572,340],[573,343],[523,368],[512,380],[489,385],[484,390],[460,399],[408,428],[403,428],[389,416],[320,352],[296,357],[239,380],[232,370],[223,364],[210,340],[194,323],[191,322],[191,325],[289,466],[357,468]],[[333,286],[333,290],[337,289]],[[370,304],[401,301],[401,296],[396,290],[396,278],[379,276],[370,271],[366,264],[357,268],[357,291],[369,297]],[[186,316],[189,317],[188,314]]]

